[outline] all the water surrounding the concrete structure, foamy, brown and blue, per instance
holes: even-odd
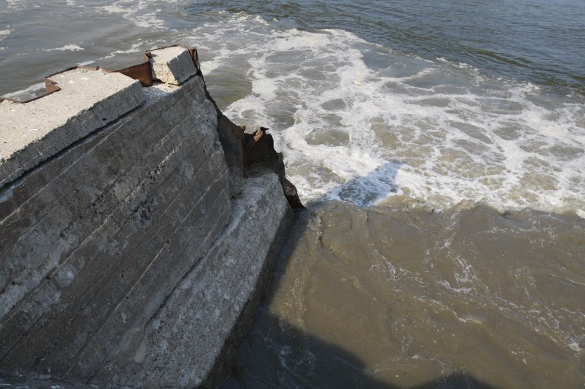
[[[585,1],[0,0],[0,95],[175,43],[310,205],[226,388],[585,388]]]

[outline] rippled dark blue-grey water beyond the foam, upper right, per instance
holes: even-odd
[[[585,91],[580,0],[207,1],[187,9],[250,12],[309,30],[339,28],[404,54]]]

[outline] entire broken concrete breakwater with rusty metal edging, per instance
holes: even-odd
[[[47,86],[0,102],[0,383],[214,384],[302,207],[270,135],[185,47]]]

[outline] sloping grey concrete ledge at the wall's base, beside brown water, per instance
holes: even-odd
[[[91,379],[100,387],[194,388],[209,376],[292,210],[278,176],[249,178],[229,224],[157,314],[137,326]],[[115,384],[113,384],[115,383]]]

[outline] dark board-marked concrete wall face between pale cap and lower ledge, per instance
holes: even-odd
[[[0,189],[0,371],[88,379],[225,228],[229,171],[203,80],[146,97]]]

